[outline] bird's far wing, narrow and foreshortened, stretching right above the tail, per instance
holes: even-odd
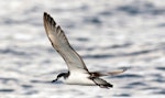
[[[128,70],[128,68],[123,68],[121,70],[116,70],[116,72],[91,72],[90,74],[92,77],[101,77],[101,76],[118,75],[118,74],[124,73],[125,70]]]

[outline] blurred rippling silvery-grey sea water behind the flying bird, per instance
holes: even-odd
[[[111,89],[51,81],[67,66],[52,47],[43,12],[62,26],[89,70]],[[164,98],[164,0],[0,0],[0,98]]]

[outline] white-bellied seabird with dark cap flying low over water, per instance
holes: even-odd
[[[61,29],[59,25],[56,24],[54,19],[48,13],[44,12],[43,20],[46,34],[53,47],[64,58],[68,67],[67,73],[58,74],[56,79],[54,79],[52,83],[55,83],[56,80],[58,80],[58,78],[64,77],[65,83],[69,85],[99,86],[101,88],[111,88],[113,87],[113,85],[103,80],[100,77],[117,75],[127,70],[121,69],[110,73],[89,72],[82,58],[70,46],[66,35],[64,34],[64,31]]]

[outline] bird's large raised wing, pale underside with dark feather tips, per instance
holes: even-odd
[[[84,69],[88,73],[88,69],[81,59],[81,57],[76,53],[76,51],[70,46],[64,31],[59,25],[56,25],[54,19],[44,12],[44,26],[46,34],[53,45],[53,47],[61,54],[61,56],[66,62],[69,70]]]

